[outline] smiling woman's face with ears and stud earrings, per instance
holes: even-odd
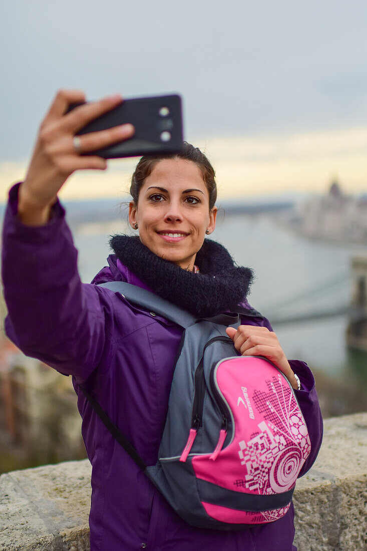
[[[129,222],[155,255],[193,269],[196,253],[215,228],[217,207],[209,212],[209,192],[199,167],[184,159],[163,159],[145,179]]]

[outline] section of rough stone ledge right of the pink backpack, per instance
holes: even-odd
[[[326,419],[319,456],[294,492],[299,551],[367,549],[367,413]]]

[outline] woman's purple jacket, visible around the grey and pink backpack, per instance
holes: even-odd
[[[146,288],[115,255],[92,284],[82,283],[61,204],[53,207],[45,226],[29,227],[17,218],[17,197],[18,185],[9,192],[3,229],[2,273],[9,311],[5,329],[26,355],[72,375],[92,465],[91,551],[294,550],[293,505],[280,520],[239,532],[192,527],[105,429],[78,383],[100,403],[144,462],[156,463],[182,329],[95,285],[125,280]],[[270,328],[267,320],[262,323]],[[295,393],[311,440],[311,455],[300,473],[304,474],[321,445],[322,418],[310,369],[301,361],[290,364],[303,385]]]

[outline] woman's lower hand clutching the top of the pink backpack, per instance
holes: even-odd
[[[225,331],[242,356],[265,356],[282,371],[293,388],[298,389],[294,373],[275,333],[266,327],[252,325],[240,325],[237,330],[227,327]]]

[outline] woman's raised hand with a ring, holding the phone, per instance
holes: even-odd
[[[88,122],[120,104],[122,98],[111,96],[81,105],[66,114],[70,104],[83,101],[82,91],[60,90],[41,122],[26,178],[19,187],[18,215],[26,224],[47,222],[58,191],[75,170],[105,170],[107,167],[106,160],[99,156],[80,156],[73,138]],[[89,152],[121,142],[133,133],[132,125],[122,125],[84,134],[79,137],[80,151]]]

